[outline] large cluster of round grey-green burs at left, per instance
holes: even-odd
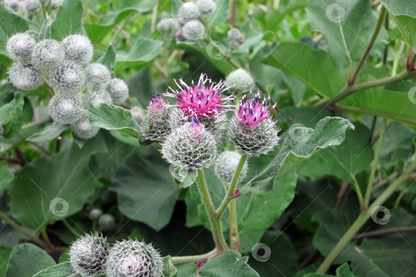
[[[105,65],[90,63],[93,46],[85,35],[36,42],[28,33],[16,33],[7,41],[7,51],[15,61],[9,70],[10,82],[24,91],[50,83],[54,95],[49,100],[49,115],[59,124],[71,125],[72,134],[80,139],[95,136],[99,128],[91,126],[74,105],[120,104],[128,97],[122,79],[111,79]]]

